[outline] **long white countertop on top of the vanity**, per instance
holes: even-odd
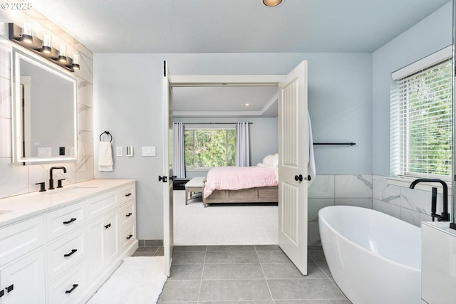
[[[0,199],[0,227],[133,182],[134,179],[92,179],[46,192],[32,192]]]

